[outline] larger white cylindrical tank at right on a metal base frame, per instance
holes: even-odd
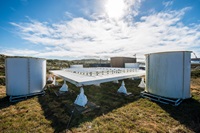
[[[145,56],[146,92],[174,99],[191,97],[191,51],[152,53]]]

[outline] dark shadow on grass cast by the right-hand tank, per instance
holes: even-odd
[[[179,106],[158,104],[167,111],[171,117],[181,124],[190,128],[196,133],[200,133],[200,102],[194,98],[184,100]]]

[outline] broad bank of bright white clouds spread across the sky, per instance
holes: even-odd
[[[124,17],[117,20],[105,14],[103,17],[91,14],[95,19],[73,17],[57,23],[30,19],[26,23],[10,24],[18,29],[22,39],[44,45],[44,50],[35,53],[41,57],[109,58],[171,50],[200,53],[194,49],[200,44],[200,26],[186,26],[181,22],[190,8],[154,12],[136,22],[134,17],[139,13],[141,1],[124,2],[127,7]],[[66,15],[72,16],[68,12]]]

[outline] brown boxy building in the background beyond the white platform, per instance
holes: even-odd
[[[110,58],[110,64],[111,67],[120,67],[124,68],[125,63],[136,63],[136,58],[131,57],[111,57]]]

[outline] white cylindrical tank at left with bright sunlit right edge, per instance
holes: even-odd
[[[6,59],[6,94],[31,95],[43,91],[46,84],[46,60],[40,58]]]

